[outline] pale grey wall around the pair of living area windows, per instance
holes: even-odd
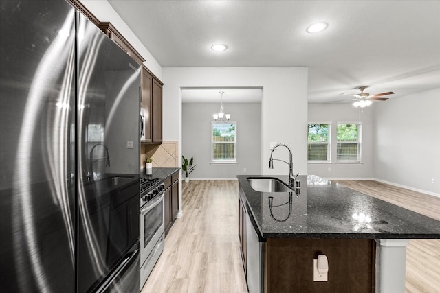
[[[309,164],[309,174],[325,178],[373,178],[373,107],[376,104],[364,108],[362,113],[352,104],[309,104],[309,122],[331,122],[331,163]],[[362,164],[336,163],[336,125],[338,121],[362,121]]]

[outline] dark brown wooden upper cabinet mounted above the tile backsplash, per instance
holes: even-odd
[[[143,66],[141,107],[146,113],[143,143],[162,143],[162,86],[162,82]]]

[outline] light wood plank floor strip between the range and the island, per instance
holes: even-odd
[[[238,181],[182,183],[183,217],[142,289],[149,292],[248,292],[241,263]]]

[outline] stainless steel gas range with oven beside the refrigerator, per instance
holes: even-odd
[[[140,185],[140,289],[164,250],[164,183],[148,176]]]

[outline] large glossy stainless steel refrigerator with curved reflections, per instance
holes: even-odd
[[[139,292],[140,65],[65,1],[0,21],[0,292]]]

